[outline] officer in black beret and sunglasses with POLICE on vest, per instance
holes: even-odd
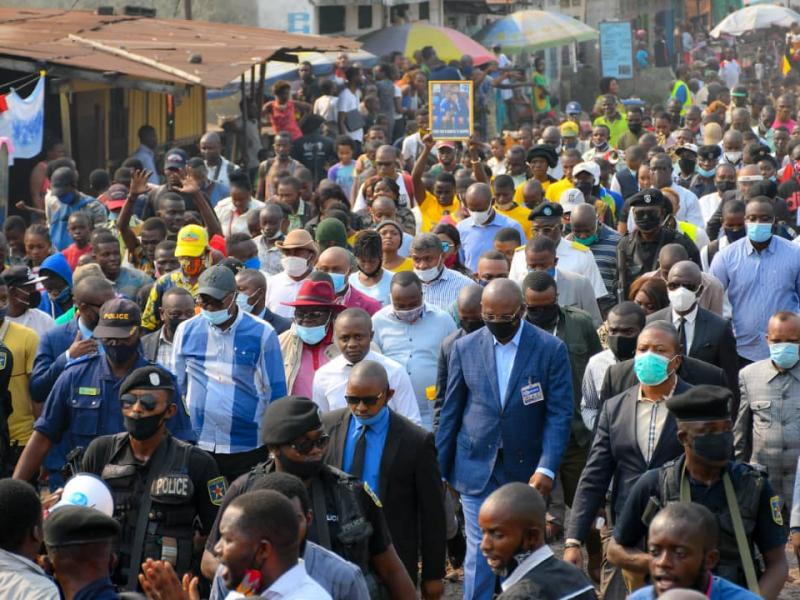
[[[225,479],[209,454],[167,431],[167,420],[178,410],[169,371],[156,365],[136,369],[119,393],[125,432],[89,444],[83,470],[111,488],[114,518],[122,526],[112,578],[135,590],[144,559],[168,561],[178,576],[192,569],[194,558],[199,562],[192,541],[196,531],[205,536],[211,529]]]

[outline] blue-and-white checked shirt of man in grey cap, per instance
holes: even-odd
[[[247,452],[263,444],[261,415],[286,395],[278,336],[272,326],[237,311],[225,330],[198,315],[178,326],[173,364],[203,450]]]

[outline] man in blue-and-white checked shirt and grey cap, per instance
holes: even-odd
[[[201,314],[178,326],[173,364],[186,390],[198,446],[233,481],[266,460],[261,415],[286,395],[286,376],[271,325],[238,309],[233,271],[203,271],[195,301]]]

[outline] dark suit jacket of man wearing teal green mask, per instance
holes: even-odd
[[[675,393],[689,389],[689,385],[678,379]],[[683,454],[678,442],[675,417],[667,415],[664,429],[653,451],[650,462],[645,462],[636,442],[636,402],[639,386],[610,398],[603,403],[597,418],[597,432],[589,450],[589,458],[583,469],[575,501],[572,505],[566,536],[585,540],[597,510],[605,503],[606,492],[613,478],[611,491],[612,522],[622,512],[625,499],[637,479],[649,469],[657,469],[664,463]]]

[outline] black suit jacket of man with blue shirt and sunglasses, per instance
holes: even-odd
[[[347,408],[322,415],[322,425],[331,436],[325,462],[339,469],[351,418]],[[423,581],[444,577],[447,529],[433,434],[393,411],[379,488],[392,543],[412,581],[417,578],[420,556]]]

